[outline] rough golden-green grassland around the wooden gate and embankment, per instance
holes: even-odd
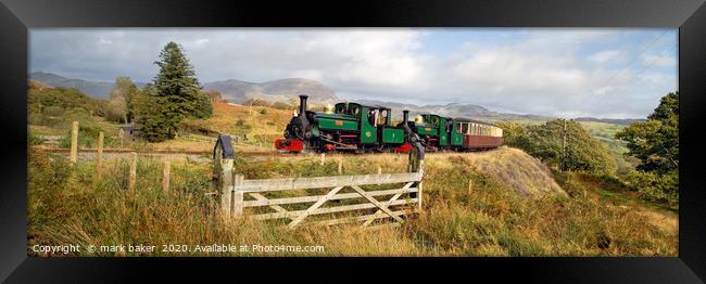
[[[424,209],[401,228],[357,225],[286,228],[243,218],[222,222],[209,164],[175,163],[172,189],[161,191],[161,163],[140,158],[137,193],[127,186],[126,162],[109,160],[104,178],[92,162],[29,152],[28,254],[35,244],[155,245],[155,253],[86,253],[80,256],[218,256],[164,253],[162,245],[322,245],[324,253],[230,253],[240,256],[676,256],[676,224],[655,223],[640,207],[606,202],[592,184],[560,177],[513,149],[489,153],[429,154]],[[401,172],[395,154],[345,156],[344,175]],[[248,179],[338,175],[335,157],[239,158]],[[468,180],[472,180],[472,188]],[[550,190],[546,190],[550,189]],[[558,194],[557,194],[558,192]],[[661,216],[661,215],[659,215]],[[664,216],[663,216],[664,217]],[[61,256],[61,255],[60,255]]]

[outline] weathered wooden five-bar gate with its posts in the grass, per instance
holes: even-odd
[[[403,217],[421,208],[421,190],[424,177],[424,149],[413,147],[408,156],[408,172],[378,173],[356,176],[331,176],[316,178],[286,178],[249,180],[232,170],[232,147],[228,135],[220,135],[214,147],[214,173],[218,177],[220,188],[222,214],[228,218],[239,218],[247,208],[269,212],[253,212],[257,220],[289,219],[287,225],[294,228],[302,224],[307,217],[353,212],[337,219],[317,220],[315,224],[340,224],[362,222],[368,227],[375,221],[391,220],[391,225],[400,225]],[[400,184],[393,189],[381,189]],[[365,190],[363,186],[375,189]],[[304,191],[306,196],[267,197],[282,191]],[[348,193],[344,193],[349,191]],[[390,196],[389,198],[381,198]],[[363,203],[360,203],[360,201]],[[353,203],[357,201],[358,203]],[[348,204],[346,204],[348,202]],[[313,203],[313,204],[312,204]],[[339,206],[324,207],[325,204]],[[343,205],[340,205],[343,203]],[[311,204],[307,206],[307,204]],[[283,206],[295,206],[287,209]],[[363,214],[362,214],[363,212]]]

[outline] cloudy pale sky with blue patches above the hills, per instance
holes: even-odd
[[[199,80],[317,80],[346,100],[644,118],[678,90],[677,29],[34,28],[29,70],[150,81],[169,41]]]

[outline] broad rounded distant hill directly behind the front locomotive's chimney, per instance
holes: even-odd
[[[225,100],[242,103],[249,99],[262,99],[269,102],[297,104],[299,94],[307,94],[312,104],[336,103],[339,98],[333,90],[314,80],[289,78],[262,83],[241,80],[223,80],[206,82],[204,90],[216,90]]]

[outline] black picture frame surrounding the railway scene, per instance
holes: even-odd
[[[0,0],[0,280],[125,281],[152,271],[227,269],[234,259],[27,257],[26,143],[28,28],[35,27],[679,27],[679,256],[658,258],[453,258],[464,273],[562,283],[703,283],[706,279],[706,191],[699,127],[706,106],[706,4],[703,0],[545,1],[262,1]],[[276,8],[275,8],[276,7]],[[276,264],[280,259],[240,259]],[[287,260],[287,259],[285,259]],[[291,259],[290,259],[291,260]],[[388,259],[390,260],[390,259]],[[396,258],[395,258],[396,260]],[[421,259],[400,258],[395,269]],[[270,262],[273,261],[273,262]],[[299,261],[299,260],[298,260]],[[312,260],[310,260],[312,261]],[[314,260],[323,264],[326,260]],[[358,262],[360,261],[360,262]],[[331,261],[326,261],[331,262]],[[365,266],[360,259],[355,266]],[[285,266],[279,266],[283,269]],[[450,266],[451,267],[451,266]],[[289,266],[292,269],[291,266]],[[507,273],[506,271],[512,271]],[[228,270],[225,270],[228,271]],[[412,270],[414,271],[414,270]],[[505,271],[505,272],[503,272]],[[430,269],[431,272],[431,269]],[[294,272],[295,273],[295,272]],[[213,273],[217,275],[217,273]],[[348,274],[346,274],[348,275]],[[414,275],[414,273],[412,274]],[[174,276],[174,275],[173,275]],[[179,276],[179,275],[176,275]],[[201,276],[201,274],[199,275]]]

